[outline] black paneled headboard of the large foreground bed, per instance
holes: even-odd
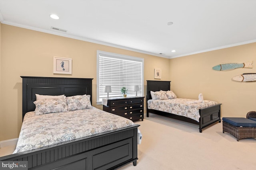
[[[22,119],[28,111],[34,111],[36,106],[35,94],[41,95],[91,95],[93,78],[58,78],[58,77],[30,77],[22,78]]]

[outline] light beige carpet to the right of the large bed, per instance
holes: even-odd
[[[255,170],[256,139],[239,142],[215,123],[198,125],[150,114],[140,124],[138,163],[120,170]]]

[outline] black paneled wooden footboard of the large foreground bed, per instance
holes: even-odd
[[[137,131],[132,125],[100,135],[75,139],[40,149],[0,157],[2,161],[28,161],[28,169],[117,169],[137,164]]]

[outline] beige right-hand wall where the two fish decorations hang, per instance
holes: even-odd
[[[216,71],[212,67],[221,63],[253,61],[253,68]],[[256,43],[230,47],[170,59],[171,89],[179,98],[198,99],[222,103],[222,117],[246,117],[256,110],[256,82],[236,82],[231,78],[243,73],[256,73]]]

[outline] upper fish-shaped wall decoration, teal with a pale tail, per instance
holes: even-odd
[[[218,71],[234,70],[236,68],[252,68],[252,62],[226,63],[226,64],[219,64],[219,65],[212,67],[213,70],[218,70]]]

